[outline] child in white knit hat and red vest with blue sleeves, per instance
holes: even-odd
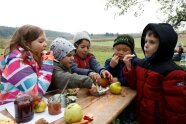
[[[101,77],[112,80],[112,75],[102,67],[89,52],[90,37],[87,32],[78,32],[74,36],[74,46],[76,47],[74,60],[75,63],[72,66],[72,71],[81,74],[88,75],[93,81],[98,81]]]

